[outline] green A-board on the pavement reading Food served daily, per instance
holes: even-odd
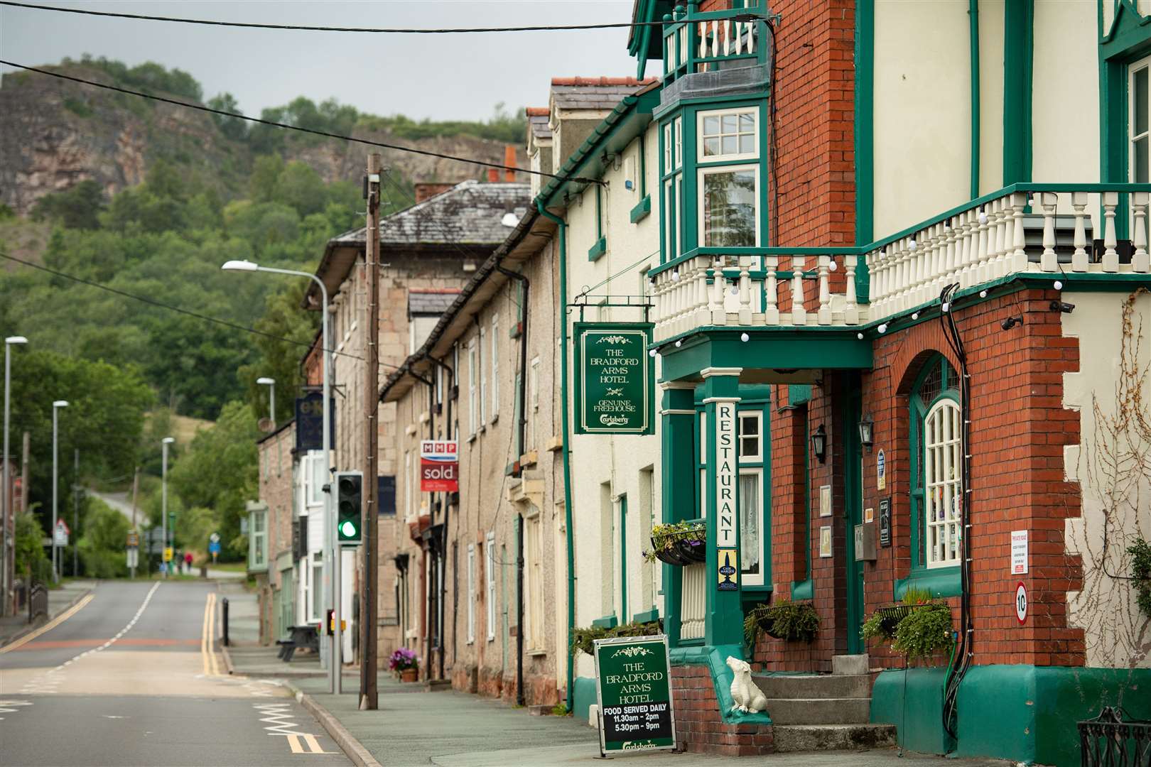
[[[595,641],[600,753],[676,747],[668,637]]]

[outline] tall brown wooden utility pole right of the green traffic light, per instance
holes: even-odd
[[[380,706],[376,677],[376,608],[379,598],[379,437],[380,424],[380,154],[367,155],[367,231],[364,277],[367,281],[367,321],[364,323],[364,506],[360,524],[364,542],[364,588],[360,589],[360,710]]]

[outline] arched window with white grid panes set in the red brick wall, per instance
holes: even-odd
[[[920,373],[910,400],[913,569],[955,567],[963,447],[959,378],[942,355]]]

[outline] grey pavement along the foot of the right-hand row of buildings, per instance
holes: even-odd
[[[224,586],[221,586],[224,588]],[[241,616],[254,623],[254,606],[244,606],[254,595],[229,593],[233,612],[230,631],[239,630]],[[238,636],[238,635],[236,635]],[[275,677],[313,712],[333,739],[360,767],[548,767],[602,765],[599,735],[586,722],[571,716],[533,716],[502,700],[442,690],[428,692],[422,684],[402,684],[390,674],[378,675],[380,707],[359,710],[359,676],[345,669],[343,693],[328,692],[328,681],[314,655],[300,655],[291,664],[276,660],[276,647],[238,643],[227,649],[235,676]],[[628,754],[620,764],[637,767],[695,767],[731,765],[730,757],[695,753],[653,752]],[[785,753],[762,759],[745,758],[737,764],[770,764],[772,767],[1001,767],[1008,762],[986,759],[944,759],[894,749],[869,751]]]

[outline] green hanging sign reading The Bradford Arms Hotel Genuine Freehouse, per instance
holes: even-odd
[[[655,434],[647,322],[577,322],[576,434]]]

